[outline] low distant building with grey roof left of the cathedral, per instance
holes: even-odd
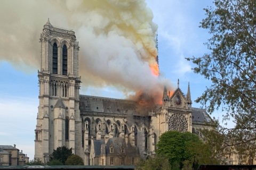
[[[0,145],[0,166],[26,165],[29,157],[23,154],[22,150],[16,148],[16,145]]]

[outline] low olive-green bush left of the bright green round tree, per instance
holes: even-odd
[[[140,162],[136,165],[136,170],[169,170],[170,164],[169,160],[165,156],[149,157],[144,160],[141,159]]]

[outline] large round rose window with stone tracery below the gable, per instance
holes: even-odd
[[[187,118],[179,113],[174,113],[169,118],[168,122],[169,131],[179,131],[186,132],[188,131],[188,121]]]

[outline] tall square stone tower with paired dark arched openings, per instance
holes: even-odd
[[[39,39],[39,107],[35,159],[49,160],[53,149],[66,146],[82,157],[79,115],[78,42],[75,32],[54,27],[49,19]]]

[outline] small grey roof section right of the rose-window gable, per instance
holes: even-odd
[[[206,113],[205,109],[202,108],[192,108],[192,121],[193,122],[204,122],[210,123],[212,122],[209,114]]]

